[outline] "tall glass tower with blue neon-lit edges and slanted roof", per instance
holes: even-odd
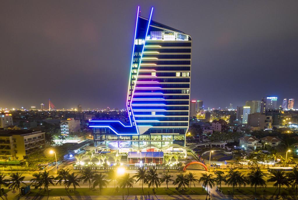
[[[191,38],[136,17],[126,106],[129,123],[91,120],[94,146],[128,152],[184,151],[189,126]]]

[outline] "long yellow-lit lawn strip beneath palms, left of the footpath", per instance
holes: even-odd
[[[49,196],[98,196],[98,195],[120,195],[122,196],[122,188],[119,188],[119,191],[117,192],[114,188],[103,188],[101,194],[99,189],[92,191],[89,190],[89,188],[77,188],[76,193],[74,193],[72,188],[69,188],[68,191],[66,191],[63,188],[55,188],[51,189],[49,191]],[[194,191],[193,193],[191,191]],[[123,189],[124,195],[128,195],[127,188]],[[143,191],[141,187],[136,187],[136,188],[129,188],[129,194],[130,195],[142,195]],[[145,188],[144,187],[144,194],[145,195],[154,195],[152,188]],[[169,190],[164,190],[164,188],[158,188],[156,190],[156,195],[179,195],[180,193],[175,190],[175,187],[170,187]],[[187,188],[187,191],[184,192],[183,194],[188,194],[188,195],[205,195],[206,191],[203,190],[201,187],[196,187],[196,188]],[[39,190],[39,189],[31,189],[31,193],[27,194],[26,196],[47,196],[48,193],[44,191],[44,189]]]

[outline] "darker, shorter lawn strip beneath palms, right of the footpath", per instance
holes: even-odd
[[[280,195],[295,195],[295,188],[286,187],[287,189],[281,187]],[[223,193],[232,194],[232,187],[222,187]],[[230,190],[230,191],[228,191]],[[263,191],[264,190],[264,191]],[[235,195],[254,195],[254,187],[240,187],[240,189],[236,189],[234,187]],[[257,187],[256,195],[277,195],[278,189],[276,187]]]

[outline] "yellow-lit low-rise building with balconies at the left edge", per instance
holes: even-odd
[[[30,130],[0,131],[0,163],[13,164],[45,147],[45,133]]]

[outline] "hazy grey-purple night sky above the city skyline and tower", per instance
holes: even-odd
[[[0,107],[125,107],[137,6],[192,36],[191,99],[298,108],[298,1],[1,1]]]

